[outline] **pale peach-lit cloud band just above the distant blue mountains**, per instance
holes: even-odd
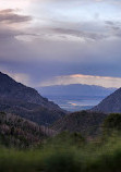
[[[86,84],[97,85],[102,87],[121,87],[121,77],[109,77],[109,76],[94,76],[94,75],[63,75],[53,77],[50,81],[46,81],[39,84],[39,86],[53,86],[53,85],[70,85],[70,84]]]

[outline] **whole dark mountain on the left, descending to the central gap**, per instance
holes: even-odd
[[[51,124],[65,113],[34,88],[26,87],[3,73],[0,73],[0,111],[19,114],[43,125]]]

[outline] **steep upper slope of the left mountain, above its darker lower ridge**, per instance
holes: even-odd
[[[0,97],[17,99],[26,102],[41,105],[48,109],[60,109],[57,105],[41,97],[36,89],[15,82],[7,74],[0,72]]]

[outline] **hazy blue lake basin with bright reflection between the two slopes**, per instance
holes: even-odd
[[[49,100],[59,105],[62,109],[68,111],[78,111],[90,109],[94,106],[98,105],[105,97],[100,96],[49,96],[43,95]]]

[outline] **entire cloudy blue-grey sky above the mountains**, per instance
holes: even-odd
[[[27,86],[121,86],[121,0],[0,0],[0,71]]]

